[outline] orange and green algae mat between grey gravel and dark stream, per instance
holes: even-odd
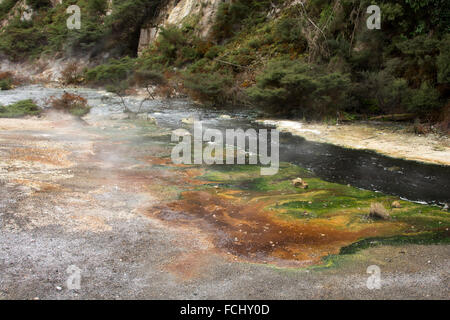
[[[134,124],[103,134],[132,144],[127,152],[145,163],[141,175],[151,177],[148,189],[159,200],[146,214],[208,238],[233,260],[309,267],[370,246],[449,243],[450,214],[437,206],[327,182],[289,163],[274,176],[261,176],[254,165],[175,165],[170,132]],[[308,189],[293,185],[299,177]],[[388,220],[369,216],[374,203]]]

